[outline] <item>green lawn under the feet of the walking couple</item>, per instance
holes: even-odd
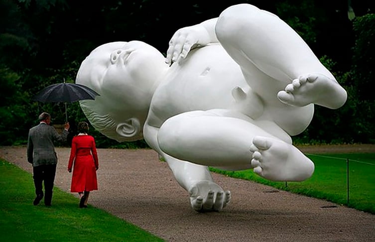
[[[161,242],[160,238],[55,187],[52,207],[33,206],[29,173],[0,159],[0,241]],[[43,202],[41,202],[43,204]]]

